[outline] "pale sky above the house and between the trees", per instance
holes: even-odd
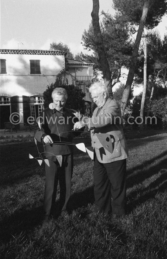
[[[99,0],[100,10],[114,15],[111,0]],[[92,0],[1,0],[1,49],[50,49],[63,42],[75,55],[90,54],[81,38],[91,22]],[[101,16],[102,17],[102,16]],[[156,27],[167,33],[167,16]]]

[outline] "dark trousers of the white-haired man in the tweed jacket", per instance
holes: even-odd
[[[102,164],[94,160],[94,212],[125,214],[126,159]],[[112,203],[111,203],[112,197]]]

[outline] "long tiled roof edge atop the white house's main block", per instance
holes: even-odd
[[[41,49],[0,49],[1,54],[26,54],[26,55],[65,55],[61,50],[41,50]]]

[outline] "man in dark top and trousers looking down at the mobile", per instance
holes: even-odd
[[[74,126],[74,110],[65,108],[67,92],[64,88],[55,88],[52,92],[53,105],[42,111],[41,126],[35,130],[37,141],[43,141],[44,156],[49,160],[45,164],[46,179],[43,203],[43,226],[48,225],[52,205],[55,203],[57,184],[60,186],[60,211],[67,215],[67,202],[71,192],[73,173],[73,146],[64,142],[72,142],[71,131]],[[61,143],[63,142],[63,143]]]

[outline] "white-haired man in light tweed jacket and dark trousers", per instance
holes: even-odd
[[[126,213],[126,158],[128,149],[122,128],[121,108],[109,97],[105,83],[96,82],[89,92],[97,105],[92,118],[83,117],[74,128],[91,132],[94,151],[94,212],[110,213],[113,220]],[[74,113],[79,116],[78,113]]]

